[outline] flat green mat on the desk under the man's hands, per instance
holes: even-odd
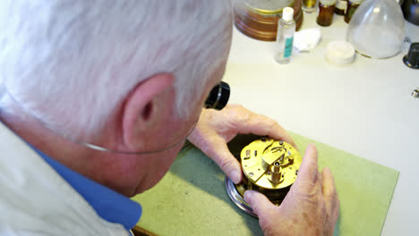
[[[292,134],[304,154],[319,150],[319,167],[329,166],[340,199],[335,235],[380,235],[398,172],[312,139]],[[162,181],[133,199],[141,203],[138,223],[158,235],[263,235],[258,220],[228,198],[224,174],[195,147],[184,149]]]

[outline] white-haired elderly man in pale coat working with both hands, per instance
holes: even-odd
[[[127,197],[153,187],[185,139],[235,182],[226,143],[237,133],[293,143],[240,105],[202,110],[225,70],[230,7],[1,1],[0,235],[129,235],[141,206]],[[252,191],[245,199],[266,235],[331,235],[338,218],[315,147],[281,206]]]

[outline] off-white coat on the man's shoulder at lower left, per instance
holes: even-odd
[[[0,122],[0,236],[130,235]]]

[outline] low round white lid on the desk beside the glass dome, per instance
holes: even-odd
[[[332,41],[326,47],[326,61],[332,64],[350,64],[355,58],[355,49],[350,43],[340,40]]]

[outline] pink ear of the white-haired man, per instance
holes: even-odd
[[[162,73],[141,81],[126,97],[122,117],[125,146],[138,150],[143,145],[141,136],[155,131],[158,122],[164,121],[173,104],[173,88],[173,75]]]

